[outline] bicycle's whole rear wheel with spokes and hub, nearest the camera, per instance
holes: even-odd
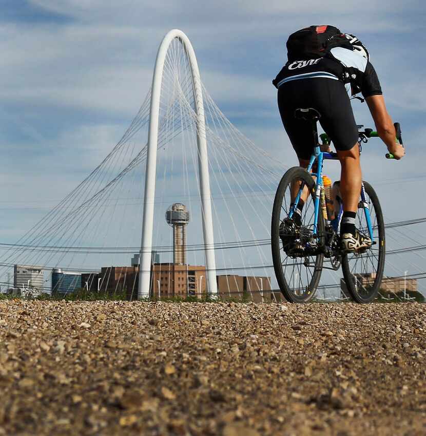
[[[302,211],[302,225],[288,219],[292,186],[303,184],[309,190]],[[301,167],[290,168],[281,179],[275,196],[271,224],[272,259],[278,285],[291,302],[312,299],[321,277],[324,255],[324,218],[318,217],[318,237],[314,237],[315,182]]]

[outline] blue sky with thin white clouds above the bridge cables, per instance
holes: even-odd
[[[364,178],[376,183],[386,221],[426,216],[418,197],[426,179],[424,23],[419,0],[2,0],[0,240],[17,240],[120,140],[172,28],[189,36],[202,80],[225,116],[278,157],[291,146],[271,81],[285,61],[288,34],[313,24],[356,34],[407,148],[402,161],[390,162],[379,140],[369,142]],[[354,111],[358,123],[373,127],[365,104],[355,102]],[[412,237],[422,236],[421,225]],[[418,262],[426,269],[423,258]]]

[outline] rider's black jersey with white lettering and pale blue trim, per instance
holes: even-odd
[[[352,95],[362,92],[364,97],[380,96],[382,90],[376,71],[357,51],[335,47],[324,58],[287,62],[273,84],[279,88],[284,83],[299,80],[327,78],[339,80],[351,87]]]

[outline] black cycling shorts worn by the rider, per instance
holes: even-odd
[[[314,151],[310,121],[294,116],[298,108],[312,107],[320,114],[320,124],[336,150],[350,150],[358,141],[358,127],[346,88],[339,80],[298,79],[278,89],[278,107],[284,128],[300,159],[308,160]]]

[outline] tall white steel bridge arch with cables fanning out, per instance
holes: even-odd
[[[150,296],[152,232],[154,219],[154,198],[156,191],[161,84],[167,51],[170,44],[175,39],[178,39],[186,50],[192,75],[195,110],[197,114],[198,166],[200,173],[200,195],[207,270],[206,289],[210,297],[216,298],[218,294],[216,282],[216,258],[214,249],[213,219],[211,213],[211,195],[208,174],[203,91],[201,86],[200,70],[198,68],[195,51],[185,33],[178,29],[171,30],[164,37],[157,53],[156,66],[154,68],[154,75],[152,79],[138,298],[147,298]]]

